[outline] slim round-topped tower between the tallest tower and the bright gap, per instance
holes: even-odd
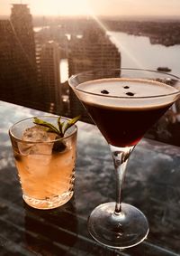
[[[60,53],[58,43],[49,41],[41,46],[40,74],[44,90],[46,108],[59,113],[62,107],[60,86]]]

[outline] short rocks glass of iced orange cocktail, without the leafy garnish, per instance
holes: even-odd
[[[56,125],[58,117],[40,119]],[[33,118],[23,119],[10,128],[23,200],[31,207],[52,209],[67,203],[72,197],[76,133],[76,125],[73,125],[64,137],[57,138],[55,134],[34,125]]]

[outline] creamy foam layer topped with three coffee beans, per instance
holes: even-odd
[[[86,81],[76,89],[78,97],[85,103],[116,109],[168,105],[176,100],[175,93],[178,92],[159,81],[121,78]]]

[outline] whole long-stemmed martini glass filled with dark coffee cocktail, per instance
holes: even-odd
[[[148,235],[148,221],[121,202],[126,166],[140,138],[179,98],[180,81],[164,72],[119,69],[82,72],[68,82],[109,144],[116,175],[116,200],[94,209],[88,231],[111,248],[137,245]]]

